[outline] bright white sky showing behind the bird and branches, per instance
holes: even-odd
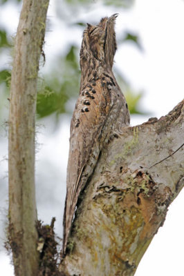
[[[118,10],[108,8],[104,12],[98,1],[95,2],[89,12],[75,14],[73,22],[76,18],[89,23],[98,22],[102,16],[109,16]],[[135,90],[145,92],[141,101],[144,110],[151,112],[154,117],[166,115],[184,95],[184,1],[137,0],[133,8],[119,13],[116,23],[117,37],[122,37],[124,30],[137,32],[144,51],[140,52],[131,43],[124,43],[118,48],[116,66],[122,70]],[[55,17],[54,1],[50,1],[48,15],[51,32],[46,33],[46,71],[61,49],[64,50],[66,45],[63,37],[72,43],[75,41],[77,45],[80,45],[82,39],[82,28],[76,29],[68,37],[61,21]],[[15,12],[12,5],[9,5],[3,14],[0,11],[1,24],[8,18],[11,18],[8,28],[13,34],[16,32],[19,13]],[[131,124],[141,124],[147,119],[148,117],[134,117]],[[37,137],[38,142],[42,144],[37,153],[37,182],[39,188],[41,186],[44,190],[42,194],[37,194],[37,198],[42,199],[38,214],[46,223],[50,223],[51,217],[56,215],[55,226],[61,236],[63,210],[59,206],[61,201],[64,202],[62,194],[66,190],[69,119],[64,115],[62,124],[57,126],[55,131],[49,122],[49,118],[44,120],[46,128],[42,128],[42,133],[38,133]],[[7,154],[6,151],[6,148],[0,145],[2,156]],[[55,183],[50,192],[48,186],[53,179]],[[158,230],[142,258],[136,276],[184,275],[183,192],[169,207],[165,224]],[[0,253],[0,275],[13,275],[9,262],[8,257]]]

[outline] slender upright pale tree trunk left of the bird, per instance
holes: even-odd
[[[9,243],[15,275],[37,275],[35,109],[49,0],[24,0],[15,39],[9,115]]]

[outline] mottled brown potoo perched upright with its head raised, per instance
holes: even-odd
[[[80,94],[70,128],[63,255],[66,255],[77,201],[93,174],[100,152],[113,135],[120,135],[123,126],[129,126],[127,102],[112,71],[117,49],[116,17],[118,14],[104,17],[97,25],[87,23],[83,33]]]

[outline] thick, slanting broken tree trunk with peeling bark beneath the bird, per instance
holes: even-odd
[[[64,275],[134,275],[184,184],[184,101],[125,127],[104,148],[80,197]]]

